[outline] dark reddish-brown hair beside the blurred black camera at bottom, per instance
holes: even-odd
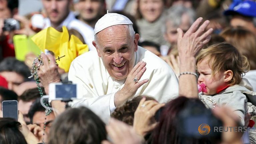
[[[171,100],[165,105],[160,120],[156,128],[152,132],[152,144],[182,144],[187,141],[179,134],[178,129],[178,115],[186,108],[188,103],[194,103],[201,108],[205,108],[204,104],[198,98],[187,98],[179,96]],[[187,143],[187,142],[186,142]],[[208,144],[209,140],[205,138],[192,138],[189,139],[190,144]]]

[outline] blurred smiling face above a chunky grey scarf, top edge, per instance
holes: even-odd
[[[148,22],[154,22],[162,14],[164,9],[163,0],[140,0],[139,11]]]

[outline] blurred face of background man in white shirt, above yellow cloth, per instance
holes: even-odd
[[[69,5],[71,0],[42,0],[43,6],[46,10],[52,25],[57,27],[69,14]]]

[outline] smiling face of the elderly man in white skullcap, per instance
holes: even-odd
[[[135,34],[133,39],[127,25],[115,25],[100,31],[95,37],[97,42],[93,41],[93,45],[110,76],[125,79],[134,66],[139,35]]]

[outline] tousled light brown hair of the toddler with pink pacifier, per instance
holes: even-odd
[[[214,77],[218,72],[231,70],[233,77],[229,85],[239,84],[244,73],[250,70],[250,65],[245,56],[242,56],[238,50],[228,43],[219,43],[202,49],[197,58],[196,64],[209,58],[209,66],[212,69]]]

